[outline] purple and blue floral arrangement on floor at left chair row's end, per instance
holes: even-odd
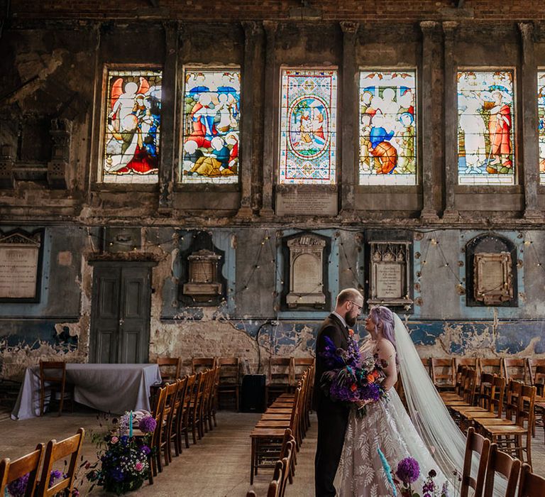
[[[134,435],[133,423],[138,422],[140,434]],[[95,485],[104,487],[105,491],[116,495],[140,488],[150,475],[151,436],[157,423],[153,416],[136,417],[134,413],[126,413],[116,427],[104,435],[94,435],[99,460],[88,465],[87,479]],[[99,467],[100,466],[100,467]],[[89,490],[90,491],[90,490]]]

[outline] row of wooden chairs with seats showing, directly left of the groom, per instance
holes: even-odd
[[[304,371],[293,393],[282,393],[261,415],[250,437],[251,469],[250,484],[258,474],[259,467],[275,465],[285,442],[285,430],[289,428],[294,436],[296,449],[299,450],[310,426],[310,396],[314,381],[314,365]],[[290,470],[294,474],[296,458]]]

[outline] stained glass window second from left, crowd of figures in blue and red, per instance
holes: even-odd
[[[182,182],[238,182],[239,70],[185,70]]]

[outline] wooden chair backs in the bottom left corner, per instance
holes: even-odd
[[[72,495],[79,452],[82,449],[85,430],[79,428],[76,435],[57,442],[50,440],[45,447],[38,444],[36,449],[26,456],[19,457],[15,461],[9,458],[0,461],[0,496],[6,493],[6,487],[16,479],[28,474],[26,483],[26,496],[51,497],[57,494]],[[70,458],[67,462],[66,459]],[[65,469],[60,479],[50,486],[50,474],[53,465],[65,459]],[[40,475],[40,466],[42,467]],[[40,478],[38,479],[38,475]]]

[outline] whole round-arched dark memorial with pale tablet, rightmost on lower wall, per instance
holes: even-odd
[[[517,249],[503,236],[475,236],[466,244],[468,306],[517,307]]]

